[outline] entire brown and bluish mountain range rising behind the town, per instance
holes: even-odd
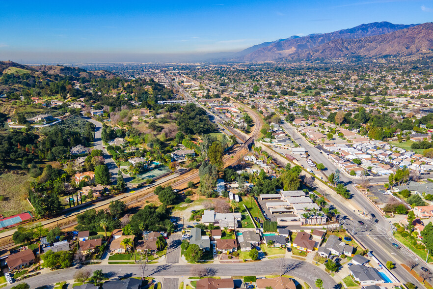
[[[238,52],[237,60],[312,60],[344,57],[377,58],[432,53],[433,23],[362,24],[330,33],[292,36]]]

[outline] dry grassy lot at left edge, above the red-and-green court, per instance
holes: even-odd
[[[0,175],[0,196],[4,200],[0,202],[0,214],[9,217],[32,208],[27,202],[27,190],[32,178],[25,174],[3,173]]]

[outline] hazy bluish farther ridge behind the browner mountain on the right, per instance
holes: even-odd
[[[415,25],[396,25],[389,22],[375,22],[330,33],[311,34],[296,39],[287,39],[280,42],[273,42],[266,47],[262,47],[244,56],[243,60],[268,61],[279,58],[291,58],[291,56],[294,55],[300,57],[302,52],[313,50],[314,48],[320,47],[333,40],[359,39],[368,36],[377,36],[414,26]]]

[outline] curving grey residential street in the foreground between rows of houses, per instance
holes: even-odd
[[[145,277],[150,276],[162,281],[161,277],[175,278],[183,277],[187,278],[191,276],[191,270],[195,266],[204,266],[209,268],[209,271],[215,276],[263,276],[263,275],[279,275],[279,269],[277,268],[278,259],[257,261],[242,264],[209,264],[209,265],[198,265],[198,264],[151,264],[148,265],[145,271]],[[333,278],[323,270],[318,270],[316,265],[311,263],[286,259],[287,266],[284,274],[291,275],[295,279],[301,279],[307,282],[310,286],[314,287],[316,279],[320,278],[324,281],[325,289],[336,289],[337,283]],[[91,271],[102,269],[104,273],[110,279],[117,279],[122,277],[141,277],[141,272],[138,265],[131,264],[110,264],[110,265],[87,265],[85,268]],[[73,280],[74,273],[77,268],[67,268],[45,273],[34,277],[27,278],[23,282],[27,283],[30,288],[37,288],[44,285],[55,284],[60,281]],[[158,278],[160,277],[160,278]],[[171,282],[170,282],[171,283]],[[10,289],[16,286],[17,283],[8,285],[6,289]],[[162,287],[165,289],[165,287]],[[177,287],[178,288],[178,287]]]

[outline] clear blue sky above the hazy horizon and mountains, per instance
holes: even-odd
[[[429,0],[1,0],[0,59],[240,51],[362,23],[432,19]]]

